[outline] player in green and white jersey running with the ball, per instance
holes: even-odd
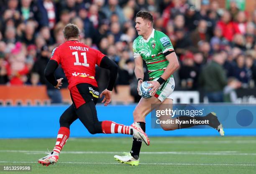
[[[139,35],[133,41],[135,60],[134,71],[138,79],[138,87],[143,82],[143,60],[145,60],[150,80],[148,83],[151,83],[151,91],[153,91],[153,97],[149,99],[141,98],[133,112],[134,122],[138,122],[145,132],[145,117],[151,112],[151,104],[160,104],[160,109],[161,106],[163,106],[163,109],[166,108],[166,105],[172,109],[172,92],[175,87],[172,74],[179,68],[179,62],[169,37],[163,32],[157,31],[153,28],[153,16],[149,12],[140,11],[136,14],[135,28]],[[224,135],[222,124],[220,124],[214,112],[207,114],[205,117],[160,117],[161,121],[165,121],[167,119],[173,120],[174,122],[173,124],[161,124],[161,127],[164,130],[183,129],[199,125],[194,122],[189,124],[179,124],[177,121],[189,122],[190,120],[209,120],[210,122],[206,125],[218,130],[220,135]],[[124,156],[115,155],[115,160],[125,164],[138,165],[141,143],[141,140],[133,137],[131,152],[124,152]]]

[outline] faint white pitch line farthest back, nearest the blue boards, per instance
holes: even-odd
[[[77,142],[102,142],[102,139],[77,139],[70,138],[69,141],[77,141]],[[109,140],[105,140],[109,141]],[[256,143],[256,140],[153,140],[154,144],[253,144]],[[123,140],[123,139],[113,139],[111,142],[118,142],[120,144],[131,144],[131,140]]]

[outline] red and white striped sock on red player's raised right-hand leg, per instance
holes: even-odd
[[[118,124],[112,121],[103,121],[101,127],[102,133],[104,134],[133,134],[133,131],[131,131],[131,126],[125,126],[123,124]]]

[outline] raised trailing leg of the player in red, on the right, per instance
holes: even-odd
[[[89,101],[80,106],[76,113],[79,120],[84,124],[91,134],[128,134],[143,140],[147,145],[150,144],[145,132],[141,129],[138,123],[133,123],[131,126],[125,126],[112,121],[100,122],[97,117],[97,111],[94,102]]]

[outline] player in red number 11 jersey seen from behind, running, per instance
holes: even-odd
[[[79,119],[91,134],[130,134],[149,145],[149,139],[138,123],[125,126],[112,121],[98,120],[95,104],[102,96],[102,103],[105,103],[105,106],[110,103],[118,66],[100,51],[80,42],[77,25],[67,24],[63,33],[66,42],[53,50],[44,74],[55,88],[60,89],[63,78],[56,80],[54,71],[61,64],[69,82],[68,88],[73,104],[59,119],[60,129],[54,149],[46,157],[38,159],[38,163],[49,166],[58,162],[59,153],[69,138],[69,127],[76,119]],[[95,80],[95,65],[110,70],[108,87],[101,94]]]

